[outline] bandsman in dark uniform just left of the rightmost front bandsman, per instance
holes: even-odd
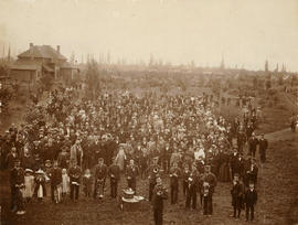
[[[199,172],[196,170],[195,163],[192,164],[192,170],[188,178],[188,188],[187,188],[187,208],[190,208],[192,203],[192,208],[196,208],[196,192],[199,188]]]

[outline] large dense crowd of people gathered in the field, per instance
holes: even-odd
[[[138,179],[148,179],[156,224],[162,223],[161,202],[167,199],[162,179],[170,181],[171,204],[182,190],[185,207],[196,208],[199,195],[204,215],[213,213],[217,182],[231,182],[234,217],[246,204],[246,219],[249,212],[254,219],[256,150],[259,146],[264,163],[268,142],[254,133],[254,108],[227,121],[214,114],[217,107],[206,94],[137,97],[119,92],[86,100],[63,89],[52,92],[45,103],[34,101],[38,119],[12,125],[1,136],[1,169],[11,171],[11,210],[24,214],[25,202],[42,201],[46,182],[53,202],[68,194],[75,202],[79,190],[103,199],[106,180],[110,196],[117,197],[124,176],[135,193]]]

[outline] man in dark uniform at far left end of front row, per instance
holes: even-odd
[[[25,213],[20,189],[24,184],[24,170],[20,167],[20,160],[15,160],[14,168],[10,172],[11,210],[17,214]]]

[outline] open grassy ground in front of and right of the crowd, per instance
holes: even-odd
[[[290,138],[290,139],[288,139]],[[262,168],[259,165],[258,194],[256,206],[256,221],[254,224],[280,225],[298,223],[298,142],[297,137],[289,133],[286,140],[272,142],[268,149],[268,161]],[[7,181],[7,173],[1,173],[1,181]],[[168,179],[164,179],[168,180]],[[121,179],[119,190],[126,186]],[[147,180],[138,180],[138,193],[148,196]],[[243,224],[245,214],[242,212],[240,221],[230,217],[232,214],[230,183],[219,183],[214,194],[214,215],[205,217],[202,215],[200,203],[196,211],[184,208],[184,197],[180,190],[179,204],[170,205],[169,200],[164,206],[164,224],[205,224],[205,225],[236,225]],[[134,212],[123,212],[116,200],[106,196],[99,202],[86,199],[72,203],[52,204],[46,197],[44,202],[32,202],[26,204],[26,214],[17,216],[9,212],[9,185],[1,182],[2,224],[153,224],[152,212],[149,202]],[[199,197],[198,197],[199,200]]]

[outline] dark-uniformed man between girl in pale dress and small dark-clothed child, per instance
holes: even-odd
[[[82,170],[77,165],[77,161],[72,160],[72,167],[68,171],[70,175],[70,183],[71,183],[71,199],[78,200],[78,192],[79,192],[79,178],[82,175]]]

